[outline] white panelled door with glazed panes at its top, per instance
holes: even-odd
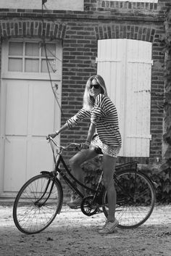
[[[53,168],[46,136],[60,125],[62,49],[53,43],[46,53],[36,41],[9,41],[2,49],[0,195],[11,196],[28,178]],[[46,54],[55,69],[51,83]],[[58,102],[51,84],[58,85]]]

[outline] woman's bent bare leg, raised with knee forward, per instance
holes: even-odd
[[[72,170],[72,173],[74,174],[75,178],[78,179],[81,183],[83,183],[83,170],[80,168],[80,165],[83,164],[83,162],[86,162],[90,160],[93,157],[96,157],[97,154],[94,152],[94,146],[91,146],[89,149],[82,149],[80,152],[75,154],[71,159],[70,159],[70,168]],[[85,190],[82,186],[78,185],[78,189],[80,192],[84,195]]]

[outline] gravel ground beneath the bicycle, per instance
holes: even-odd
[[[0,202],[0,256],[170,256],[171,205],[156,206],[149,220],[135,229],[101,236],[103,214],[88,217],[62,207],[49,228],[25,235],[14,226],[12,204]]]

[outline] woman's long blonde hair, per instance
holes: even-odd
[[[94,79],[96,79],[97,83],[99,83],[99,86],[101,86],[101,94],[107,96],[107,88],[104,83],[104,79],[101,77],[101,75],[92,75],[87,80],[86,88],[83,95],[83,107],[86,108],[86,110],[91,110],[95,102],[95,99],[89,93],[91,81]]]

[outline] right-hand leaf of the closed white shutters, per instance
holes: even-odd
[[[125,154],[149,157],[151,43],[128,41]]]

